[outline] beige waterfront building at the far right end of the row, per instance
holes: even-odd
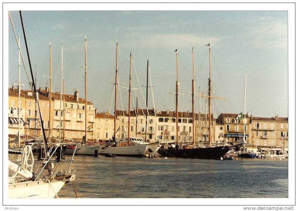
[[[285,135],[285,150],[288,148],[288,118],[287,117],[253,117],[251,119],[251,142],[262,150],[283,149]],[[268,149],[267,149],[268,148]]]

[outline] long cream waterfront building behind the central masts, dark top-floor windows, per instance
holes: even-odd
[[[131,136],[142,137],[145,140],[146,109],[131,111]],[[176,140],[176,112],[148,109],[147,142],[155,140]],[[117,110],[120,132],[118,136],[125,137],[128,133],[128,110]],[[178,140],[193,141],[193,119],[191,112],[178,112]]]

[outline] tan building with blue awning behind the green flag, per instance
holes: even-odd
[[[249,116],[246,114],[246,123],[244,128],[244,115],[237,118],[238,114],[221,113],[218,116],[218,124],[223,126],[224,139],[228,143],[237,143],[240,137],[244,137],[247,143],[251,143]]]

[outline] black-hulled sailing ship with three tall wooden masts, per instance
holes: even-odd
[[[182,143],[181,146],[174,149],[160,149],[158,151],[158,153],[161,156],[164,157],[175,157],[175,158],[197,158],[197,159],[222,159],[222,157],[228,152],[230,151],[232,148],[236,147],[236,146],[240,146],[243,144],[243,142],[240,142],[234,146],[215,146],[212,147],[211,145],[211,98],[216,98],[211,96],[211,49],[210,49],[210,44],[207,44],[207,46],[209,46],[209,146],[205,147],[205,148],[196,148],[195,144],[194,144],[194,137],[193,137],[193,146],[191,148],[189,147],[183,147]],[[178,81],[178,50],[176,49],[176,67],[177,67],[177,81],[176,81],[176,138],[177,138],[177,142],[178,140],[178,90],[179,90],[179,81]],[[194,58],[194,50],[193,50],[193,58]],[[194,59],[193,59],[194,62]],[[194,65],[193,65],[193,72],[194,72]],[[193,74],[194,77],[194,74]],[[194,95],[194,78],[193,78],[193,93],[192,95]],[[193,99],[193,98],[192,98]],[[194,99],[193,99],[194,100]],[[193,112],[194,115],[194,112]],[[193,121],[194,122],[194,121]],[[193,128],[194,131],[194,128]],[[193,132],[194,134],[194,132]]]

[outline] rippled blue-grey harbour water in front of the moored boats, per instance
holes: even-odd
[[[288,159],[77,155],[72,169],[79,198],[288,198]],[[75,198],[72,183],[58,196]]]

